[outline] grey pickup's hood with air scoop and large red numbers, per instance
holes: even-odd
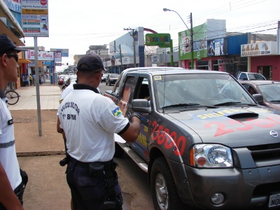
[[[181,110],[168,113],[174,123],[193,134],[194,143],[231,148],[280,142],[280,116],[261,107]],[[191,132],[190,130],[193,130]]]

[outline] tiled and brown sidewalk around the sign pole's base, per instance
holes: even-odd
[[[20,87],[15,91],[20,94],[20,100],[15,105],[9,105],[8,109],[15,121],[18,157],[64,154],[62,134],[56,131],[60,87],[50,84],[49,80],[39,86],[42,137],[39,137],[36,86]],[[47,112],[48,118],[43,112]]]

